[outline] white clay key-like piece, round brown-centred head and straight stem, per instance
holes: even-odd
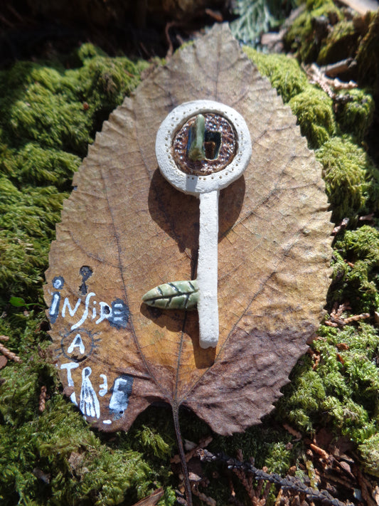
[[[232,107],[212,100],[186,102],[162,122],[156,158],[176,189],[200,199],[197,283],[200,346],[218,343],[218,195],[247,167],[250,133]]]

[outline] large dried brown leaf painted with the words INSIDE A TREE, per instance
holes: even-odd
[[[141,303],[149,288],[195,275],[198,201],[163,179],[154,143],[164,117],[198,98],[234,107],[252,137],[245,176],[220,194],[216,349],[199,347],[196,311]],[[124,100],[74,186],[45,288],[71,399],[105,431],[127,430],[155,401],[174,415],[192,409],[220,434],[259,423],[323,315],[331,226],[321,167],[296,118],[227,26]]]

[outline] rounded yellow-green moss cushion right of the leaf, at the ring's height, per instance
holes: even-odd
[[[356,222],[359,214],[378,210],[379,172],[368,154],[351,139],[333,137],[316,152],[324,167],[333,221]]]

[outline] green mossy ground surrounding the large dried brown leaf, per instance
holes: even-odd
[[[336,23],[342,21],[333,4],[319,2],[309,4],[304,26],[311,24],[312,9],[326,6]],[[341,38],[343,33],[348,36],[347,29]],[[371,38],[367,44],[374,42]],[[309,40],[304,58],[313,54],[316,59],[321,46],[315,48]],[[305,449],[302,441],[293,443],[282,424],[304,437],[324,427],[336,438],[346,436],[361,468],[379,477],[379,335],[374,319],[379,305],[379,172],[364,143],[373,119],[375,68],[368,86],[354,90],[336,108],[324,91],[309,84],[294,58],[252,48],[245,52],[292,108],[315,149],[333,221],[349,218],[333,243],[326,309],[330,314],[335,302],[348,302],[351,309],[343,315],[368,312],[370,318],[340,327],[321,325],[311,345],[314,355],[299,361],[274,413],[244,434],[215,437],[210,449],[235,455],[241,448],[257,467],[285,475],[304,461]],[[9,337],[1,343],[22,359],[1,370],[2,505],[133,505],[159,486],[165,489],[160,504],[175,502],[170,411],[148,409],[127,434],[92,431],[63,396],[49,365],[42,298],[48,250],[73,173],[102,121],[135,88],[146,66],[144,61],[109,58],[84,44],[70,56],[18,62],[0,73],[0,334]],[[368,215],[369,221],[360,219]],[[21,297],[25,304],[14,307],[10,297]],[[43,385],[48,396],[41,413]],[[181,426],[191,441],[209,433],[191,413],[182,413]],[[214,477],[211,466],[208,473],[213,480],[207,494],[226,504],[230,490],[225,478]]]

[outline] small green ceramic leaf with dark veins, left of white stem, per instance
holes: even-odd
[[[164,283],[146,292],[142,297],[145,304],[161,309],[195,309],[198,303],[198,282],[173,281]]]

